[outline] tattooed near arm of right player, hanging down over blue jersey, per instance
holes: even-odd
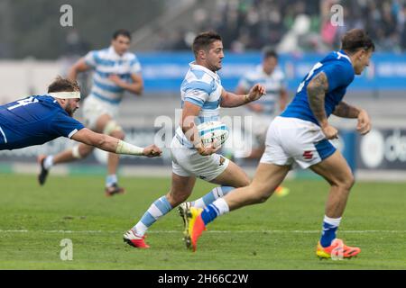
[[[327,139],[337,138],[338,131],[328,124],[328,118],[325,109],[325,97],[328,92],[328,77],[324,72],[318,73],[309,82],[308,98],[310,109],[320,124],[321,130]]]

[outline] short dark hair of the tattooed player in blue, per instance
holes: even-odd
[[[375,50],[374,41],[362,29],[352,29],[344,34],[341,40],[341,49],[355,53],[359,49]]]

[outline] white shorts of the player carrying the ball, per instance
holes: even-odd
[[[171,142],[172,172],[183,177],[197,176],[211,181],[222,174],[230,160],[219,154],[201,156],[195,148],[188,148],[173,137]]]

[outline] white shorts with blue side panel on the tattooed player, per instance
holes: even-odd
[[[331,156],[336,148],[313,122],[278,116],[266,134],[261,163],[299,165],[303,169]]]

